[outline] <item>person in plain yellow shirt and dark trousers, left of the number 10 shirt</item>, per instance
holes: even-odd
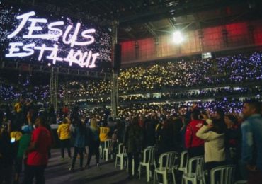
[[[61,147],[61,160],[64,160],[64,148],[67,148],[67,154],[71,159],[71,148],[70,148],[70,120],[65,117],[62,120],[62,124],[57,129],[58,138],[60,140]]]

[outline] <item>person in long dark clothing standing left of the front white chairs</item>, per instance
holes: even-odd
[[[131,124],[127,127],[124,136],[124,146],[128,156],[128,178],[132,178],[132,159],[135,161],[135,178],[138,177],[139,154],[143,145],[142,128],[139,127],[137,117],[134,117]]]

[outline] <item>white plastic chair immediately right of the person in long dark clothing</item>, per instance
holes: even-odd
[[[147,172],[147,182],[150,181],[150,177],[152,176],[150,166],[154,165],[154,152],[155,148],[154,146],[149,146],[143,151],[143,161],[140,161],[139,163],[139,179],[141,176],[141,169],[142,166],[146,167]]]

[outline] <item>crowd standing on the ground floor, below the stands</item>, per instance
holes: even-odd
[[[231,101],[228,105],[234,103]],[[159,156],[167,151],[181,153],[187,150],[189,158],[205,156],[207,171],[216,166],[234,164],[237,166],[237,180],[258,181],[261,177],[261,159],[253,154],[261,154],[261,146],[258,144],[262,136],[261,102],[254,99],[239,101],[240,106],[241,112],[230,112],[229,106],[224,106],[222,102],[214,105],[213,109],[200,102],[189,103],[188,108],[185,105],[166,105],[161,108],[151,106],[150,109],[144,107],[143,110],[127,110],[123,118],[111,127],[108,127],[110,115],[106,118],[105,114],[102,117],[93,112],[87,116],[81,108],[74,108],[77,112],[72,110],[71,113],[64,110],[57,129],[61,160],[64,160],[64,148],[67,148],[69,159],[72,159],[69,171],[74,171],[78,155],[81,170],[90,167],[92,155],[96,155],[96,165],[99,166],[99,146],[103,149],[104,142],[113,139],[115,144],[110,148],[110,154],[115,156],[118,144],[123,143],[128,160],[135,159],[135,178],[138,177],[141,151],[147,146],[155,146],[156,163]],[[13,112],[5,109],[0,113],[0,182],[11,183],[14,180],[18,183],[21,179],[21,165],[24,163],[23,183],[32,183],[34,177],[44,183],[44,172],[54,143],[49,125],[54,112],[51,109],[49,113],[38,115],[33,102],[28,100],[21,100],[13,108]],[[249,134],[254,134],[254,140]],[[73,156],[69,144],[71,137],[74,137]],[[253,149],[254,144],[256,149]],[[86,147],[89,151],[84,166],[83,154],[87,152]],[[256,153],[251,150],[256,150]],[[129,165],[129,178],[134,177],[131,168],[132,164]],[[252,178],[248,178],[248,171]]]

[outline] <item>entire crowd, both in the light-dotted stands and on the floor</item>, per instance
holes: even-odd
[[[1,79],[0,100],[4,103],[0,105],[0,183],[22,180],[28,184],[34,177],[45,183],[45,168],[55,144],[51,124],[59,124],[56,133],[61,160],[67,148],[72,160],[69,171],[75,171],[78,156],[81,170],[90,168],[93,155],[96,166],[100,166],[99,149],[103,149],[107,139],[112,139],[113,157],[118,144],[123,143],[128,160],[135,159],[135,178],[141,151],[155,146],[156,162],[166,151],[187,150],[190,158],[205,156],[207,171],[234,164],[237,180],[255,182],[261,178],[262,169],[262,157],[254,157],[255,152],[251,152],[261,154],[261,146],[257,145],[262,132],[261,58],[261,52],[254,52],[249,56],[238,54],[123,69],[119,74],[119,100],[123,104],[118,107],[116,122],[110,109],[102,106],[110,103],[110,81],[69,82],[72,98],[89,99],[61,106],[55,112],[52,105],[47,108],[44,104],[41,110],[38,106],[39,101],[49,97],[48,85],[30,86],[29,79],[11,85]],[[251,82],[258,85],[223,87]],[[59,86],[60,99],[64,92],[64,85]],[[198,102],[193,103],[194,98],[199,98]],[[254,134],[254,139],[249,134]],[[70,144],[71,139],[74,145]],[[88,154],[86,164],[84,154]],[[25,171],[21,175],[23,165]],[[132,164],[128,166],[129,178],[133,178]]]

